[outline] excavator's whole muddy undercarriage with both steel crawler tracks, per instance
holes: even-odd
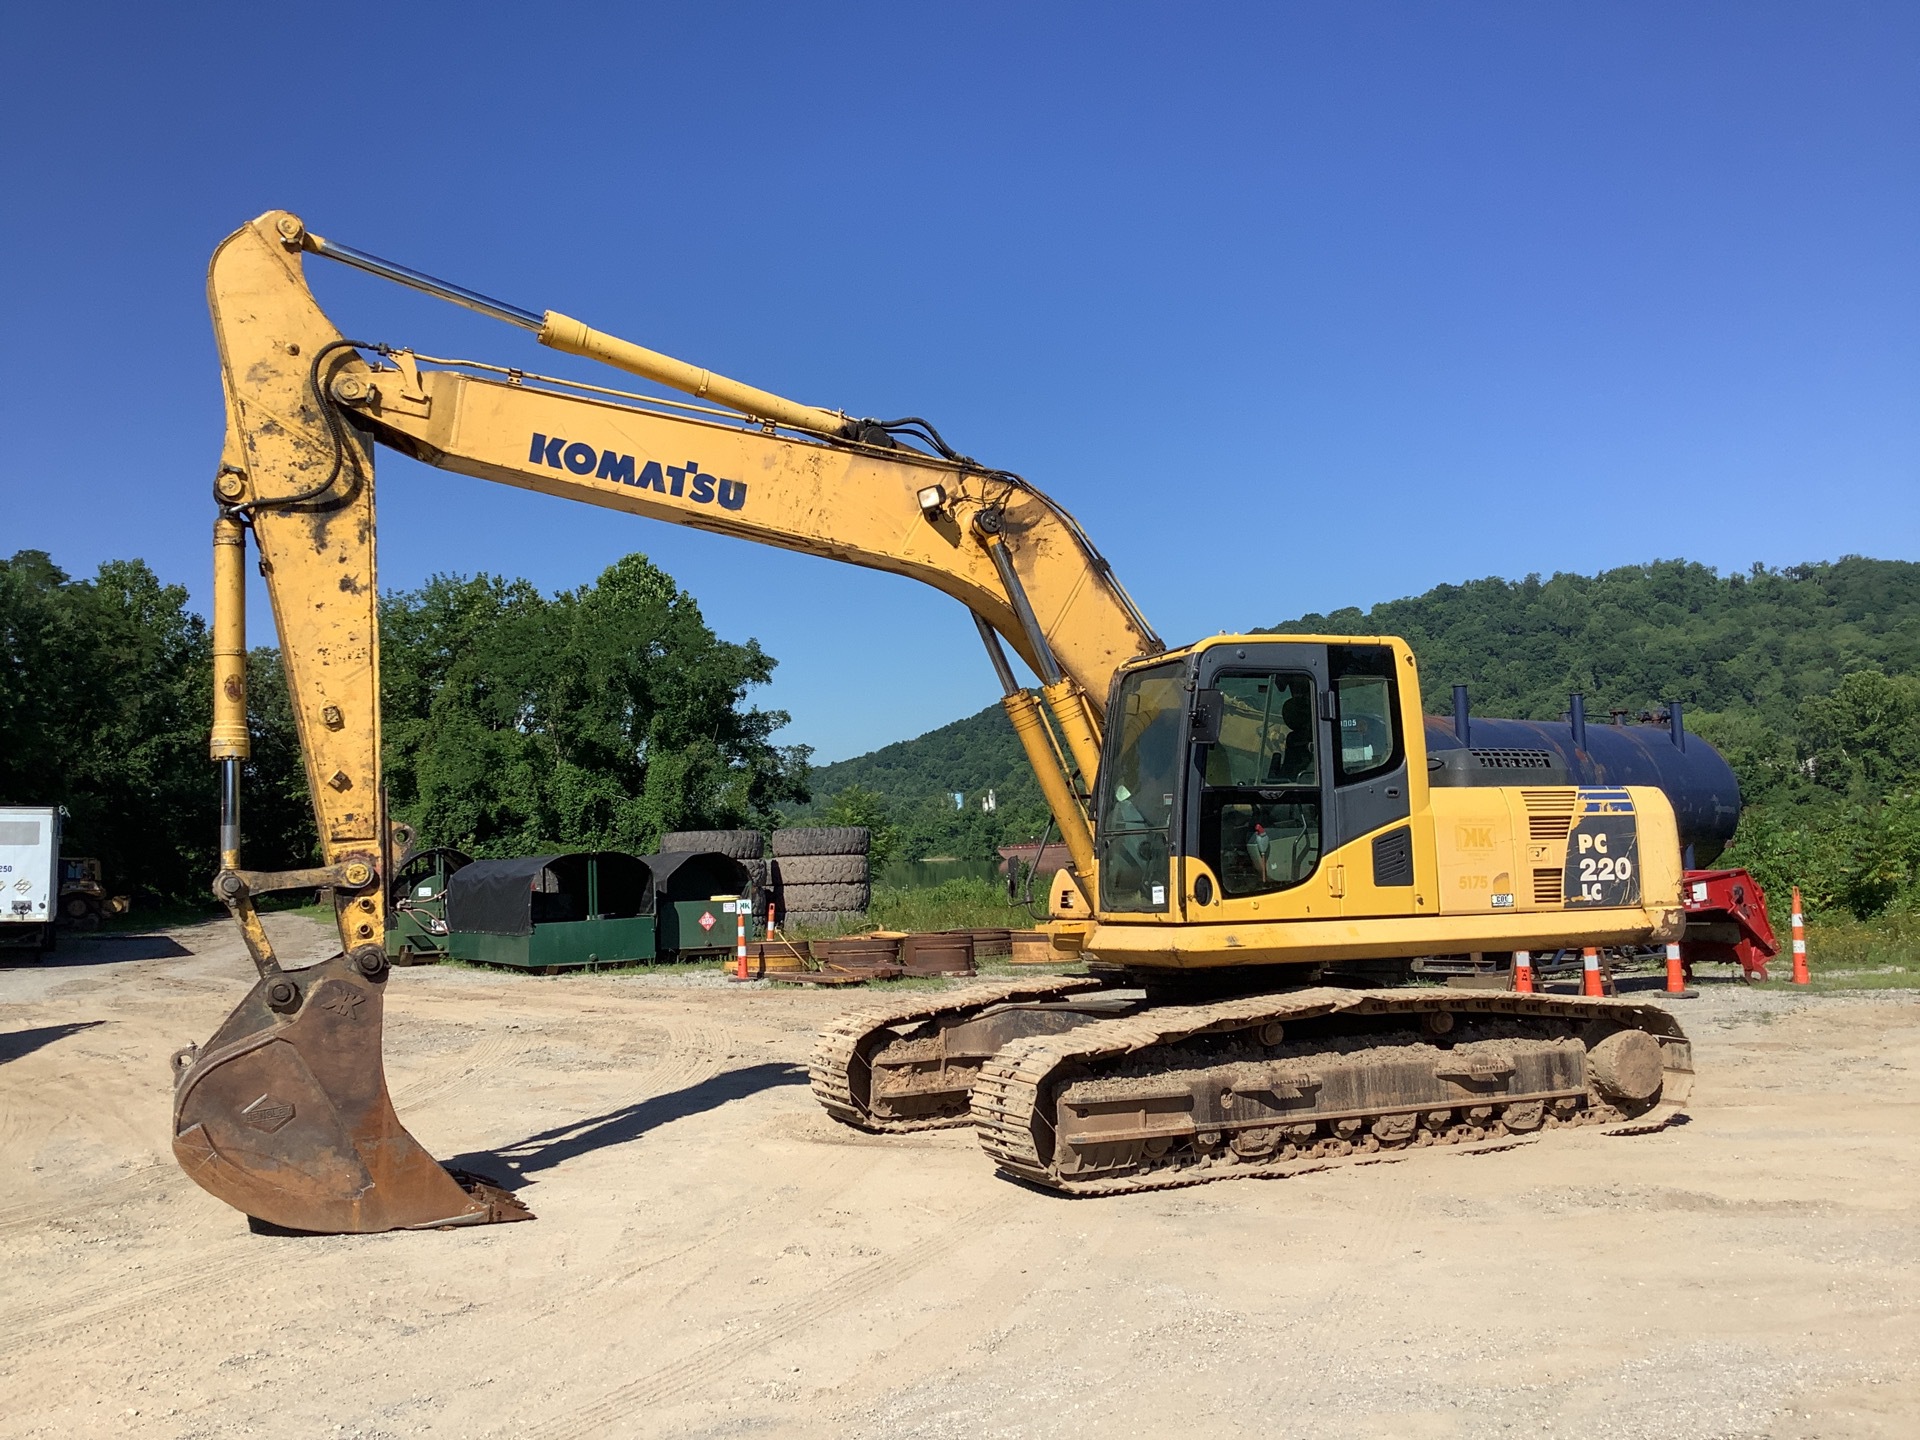
[[[1628,1000],[1309,987],[1152,1004],[1098,979],[864,1010],[812,1068],[837,1119],[972,1123],[1002,1173],[1062,1194],[1640,1133],[1692,1077],[1672,1016]]]

